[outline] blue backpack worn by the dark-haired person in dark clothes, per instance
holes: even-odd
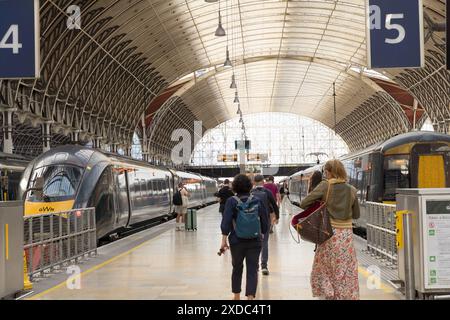
[[[253,195],[242,202],[239,197],[234,196],[237,201],[237,218],[234,230],[236,236],[241,239],[256,239],[261,235],[261,222],[259,219],[260,201]]]

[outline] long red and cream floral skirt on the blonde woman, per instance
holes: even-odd
[[[358,300],[358,261],[352,229],[333,229],[334,235],[317,247],[311,272],[314,297]]]

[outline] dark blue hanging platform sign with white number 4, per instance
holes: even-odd
[[[38,78],[39,0],[0,0],[0,78]]]

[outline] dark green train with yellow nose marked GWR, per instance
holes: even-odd
[[[217,182],[201,175],[78,145],[61,146],[26,167],[19,185],[24,214],[96,209],[97,239],[173,216],[179,182],[190,193],[189,208],[216,202]]]

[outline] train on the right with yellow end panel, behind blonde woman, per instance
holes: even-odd
[[[450,135],[416,131],[400,134],[340,158],[349,183],[357,190],[361,217],[355,230],[365,235],[366,202],[395,204],[398,188],[450,188]],[[289,177],[289,198],[295,205],[307,195],[315,171],[323,164]]]

